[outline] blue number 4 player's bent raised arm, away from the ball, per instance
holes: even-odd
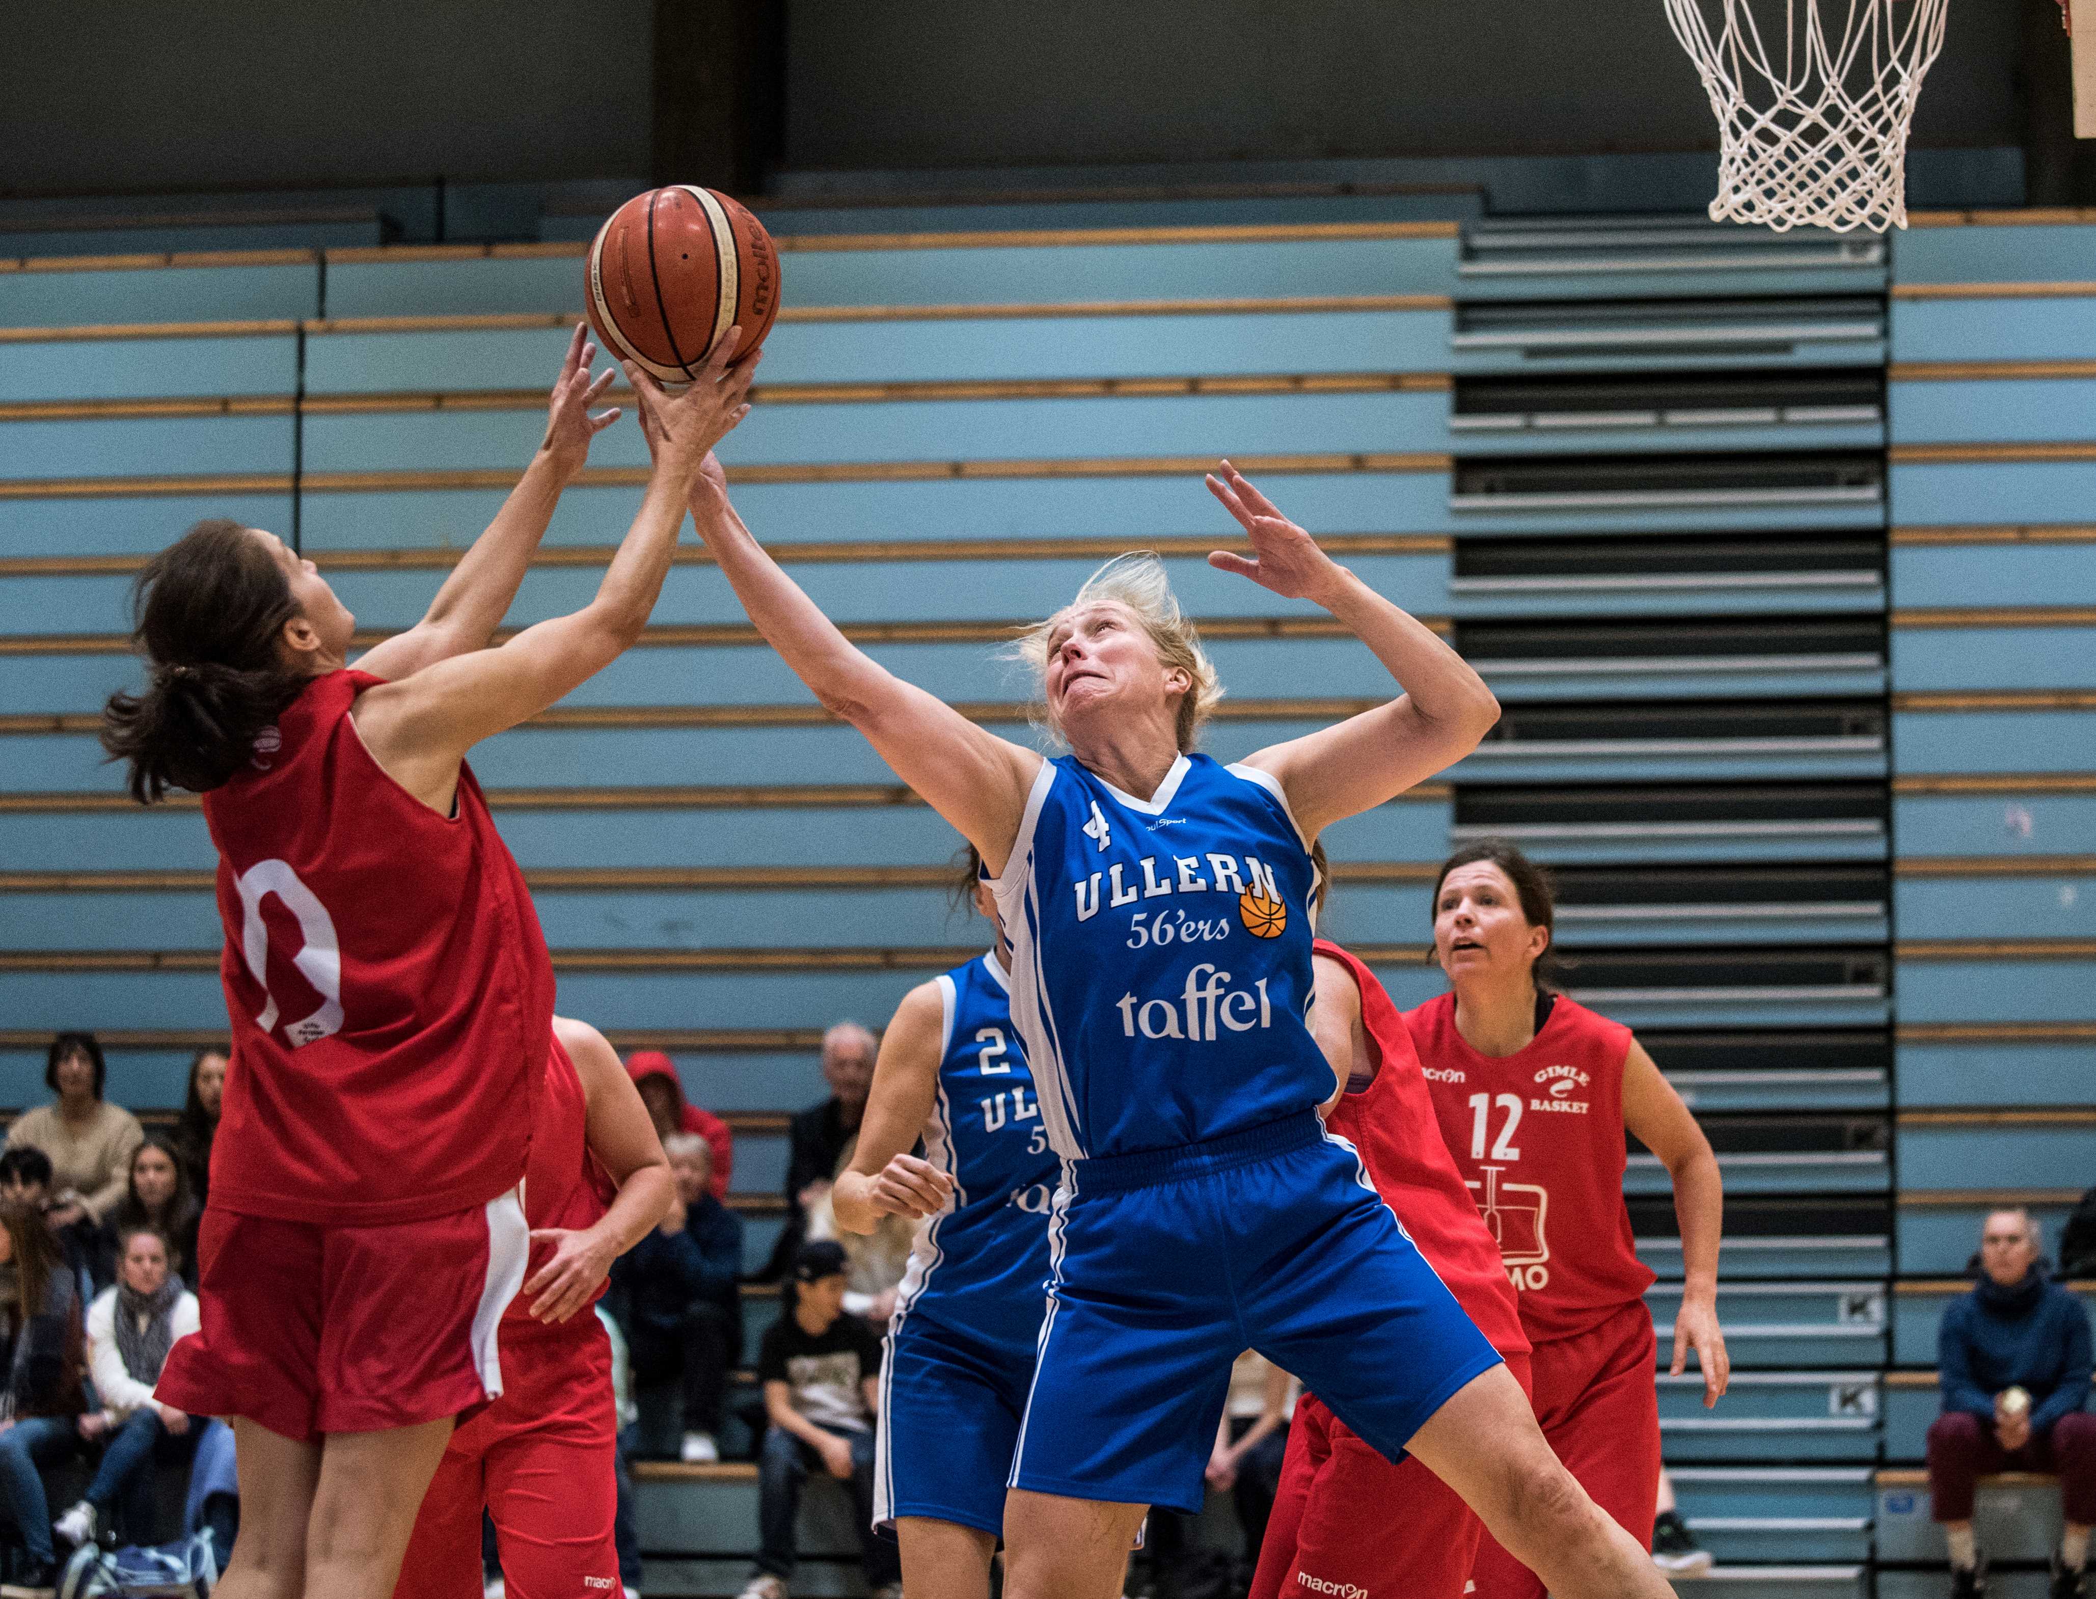
[[[1209,474],[1207,486],[1253,549],[1251,560],[1218,549],[1209,566],[1323,606],[1398,679],[1400,694],[1390,704],[1245,759],[1281,780],[1304,838],[1396,798],[1478,748],[1499,721],[1499,700],[1463,656],[1333,562],[1228,461]]]

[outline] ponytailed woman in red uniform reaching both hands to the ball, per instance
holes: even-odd
[[[354,618],[268,532],[201,522],[147,562],[143,696],[105,710],[130,788],[203,792],[233,1069],[199,1239],[203,1331],[161,1396],[233,1417],[226,1599],[386,1599],[455,1417],[501,1392],[524,1272],[516,1188],[553,968],[465,752],[648,622],[685,499],[719,476],[755,360],[664,396],[627,369],[654,474],[597,597],[488,648],[602,381],[576,329],[545,442],[430,614],[348,669]]]

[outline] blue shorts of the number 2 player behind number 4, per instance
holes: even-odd
[[[1027,1295],[1042,1306],[1040,1287]],[[952,1327],[922,1308],[880,1362],[874,1526],[903,1515],[1004,1532],[1004,1480],[1033,1381],[1035,1339]]]

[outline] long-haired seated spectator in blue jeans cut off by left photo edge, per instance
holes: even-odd
[[[50,1599],[59,1580],[42,1465],[80,1448],[86,1408],[80,1368],[80,1289],[42,1211],[0,1205],[0,1498],[21,1538],[23,1561],[0,1593]]]

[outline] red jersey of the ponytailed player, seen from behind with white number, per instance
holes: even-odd
[[[212,1205],[377,1226],[524,1176],[553,964],[474,773],[442,817],[350,717],[381,679],[316,677],[203,796],[218,845],[233,1069]]]

